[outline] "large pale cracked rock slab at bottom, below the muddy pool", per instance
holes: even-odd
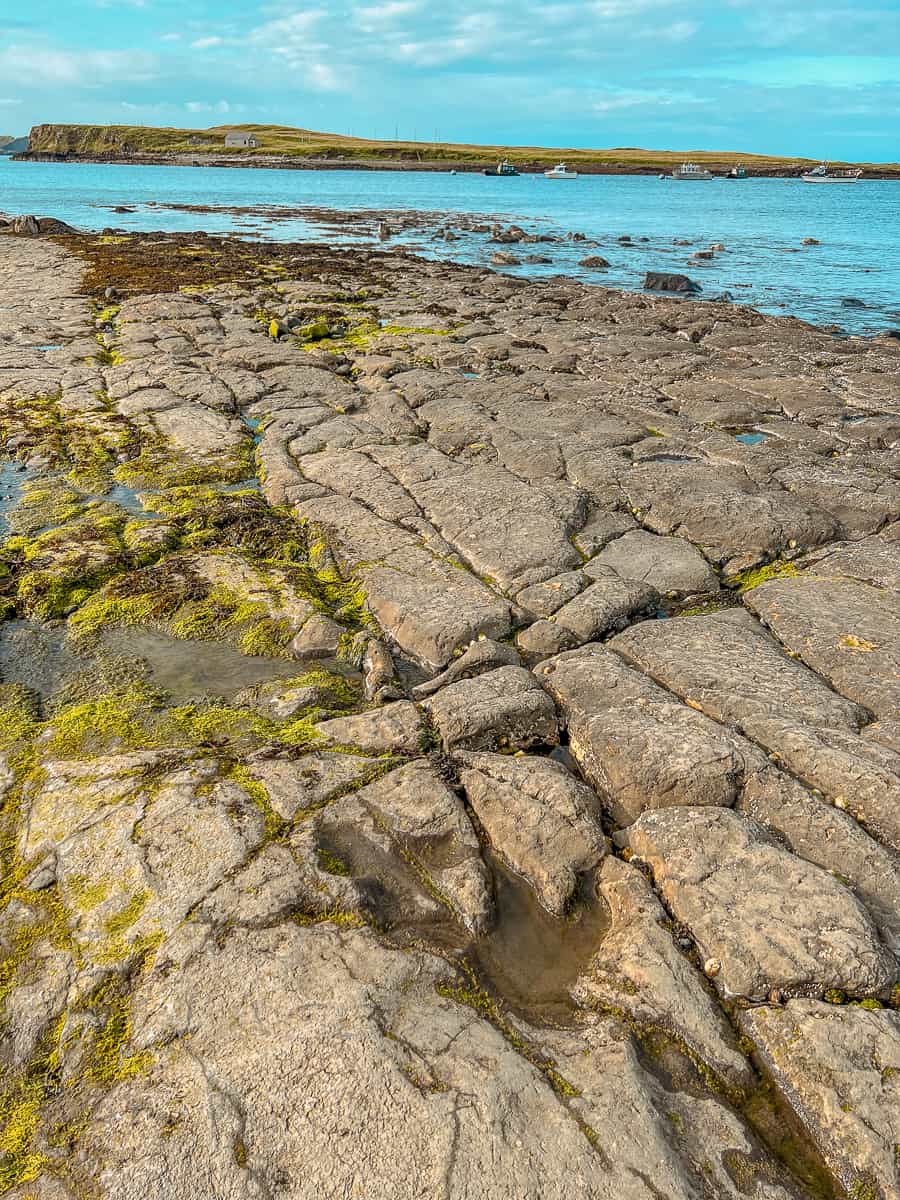
[[[559,1096],[452,998],[445,964],[365,930],[236,929],[217,944],[186,929],[166,961],[133,1006],[134,1045],[152,1060],[98,1099],[67,1163],[106,1200],[210,1188],[564,1200],[574,1177],[589,1200],[658,1200],[662,1178],[672,1200],[695,1200],[703,1157],[716,1194],[738,1200],[714,1164],[758,1154],[718,1102],[667,1096],[614,1022],[548,1036],[572,1098]],[[73,1194],[50,1172],[30,1187],[38,1200]],[[764,1200],[791,1194],[778,1171],[760,1183]]]

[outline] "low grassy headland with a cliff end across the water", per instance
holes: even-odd
[[[229,132],[253,134],[256,148],[226,146]],[[685,158],[709,170],[725,172],[744,163],[751,174],[792,175],[811,158],[779,158],[733,151],[642,150],[617,146],[586,150],[548,146],[468,145],[440,142],[378,142],[286,125],[229,125],[210,130],[152,128],[138,125],[36,125],[23,157],[103,162],[215,163],[258,167],[379,167],[478,169],[509,158],[522,170],[544,170],[565,158],[578,170],[596,174],[652,174],[671,170]],[[840,163],[859,166],[869,175],[900,178],[900,163]]]

